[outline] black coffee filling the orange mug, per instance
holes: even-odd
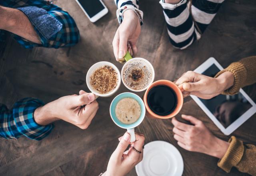
[[[165,85],[153,87],[148,92],[149,108],[159,116],[171,114],[177,106],[177,95],[172,88]]]

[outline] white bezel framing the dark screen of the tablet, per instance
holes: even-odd
[[[218,61],[215,58],[211,57],[204,63],[202,63],[198,68],[196,68],[194,72],[202,74],[205,70],[212,66],[212,64],[215,64],[220,70],[223,70],[223,67],[218,63]],[[244,90],[240,89],[239,92],[246,98],[246,100],[248,100],[248,102],[250,102],[252,107],[244,112],[242,116],[236,119],[227,128],[224,128],[224,126],[222,126],[222,124],[217,120],[217,118],[212,114],[212,112],[210,112],[210,110],[202,103],[202,101],[198,97],[194,95],[190,96],[225,135],[230,135],[232,132],[234,132],[234,130],[241,126],[246,120],[248,120],[254,113],[256,113],[256,104],[254,103],[254,101],[244,92]]]

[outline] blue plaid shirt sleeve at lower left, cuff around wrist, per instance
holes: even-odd
[[[3,138],[19,138],[41,140],[50,134],[53,124],[41,126],[34,120],[34,111],[43,102],[34,98],[24,98],[16,102],[11,110],[0,104],[0,136]]]

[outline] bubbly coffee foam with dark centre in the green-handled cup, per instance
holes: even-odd
[[[140,77],[138,80],[134,80],[132,73],[138,70],[140,72]],[[124,84],[129,88],[133,90],[142,90],[152,81],[152,72],[152,68],[144,60],[135,60],[124,67],[122,78],[124,80]]]

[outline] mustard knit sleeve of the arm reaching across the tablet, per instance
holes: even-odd
[[[256,56],[233,62],[226,69],[218,72],[215,78],[220,76],[223,72],[231,72],[235,79],[234,85],[225,90],[222,94],[234,95],[239,92],[240,88],[256,82]]]

